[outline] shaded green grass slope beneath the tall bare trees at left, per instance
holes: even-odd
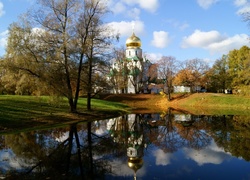
[[[74,121],[114,117],[129,111],[116,102],[92,100],[92,110],[86,110],[86,99],[79,99],[80,114],[69,113],[66,99],[35,96],[0,96],[0,132],[51,126]]]

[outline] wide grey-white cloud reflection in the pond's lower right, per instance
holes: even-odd
[[[208,147],[199,151],[190,148],[183,148],[183,151],[187,159],[194,160],[199,166],[207,163],[221,164],[231,158],[231,155],[219,148],[214,141]]]

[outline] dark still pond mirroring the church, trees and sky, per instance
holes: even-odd
[[[0,136],[1,179],[250,179],[250,117],[129,114]]]

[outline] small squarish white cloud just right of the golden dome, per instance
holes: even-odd
[[[154,39],[152,40],[151,44],[157,48],[165,48],[170,42],[168,32],[154,31],[153,36]]]

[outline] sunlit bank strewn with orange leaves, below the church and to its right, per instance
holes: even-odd
[[[232,94],[172,94],[170,102],[166,96],[151,94],[109,95],[103,99],[127,104],[137,113],[161,112],[172,107],[192,114],[250,115],[250,97]]]

